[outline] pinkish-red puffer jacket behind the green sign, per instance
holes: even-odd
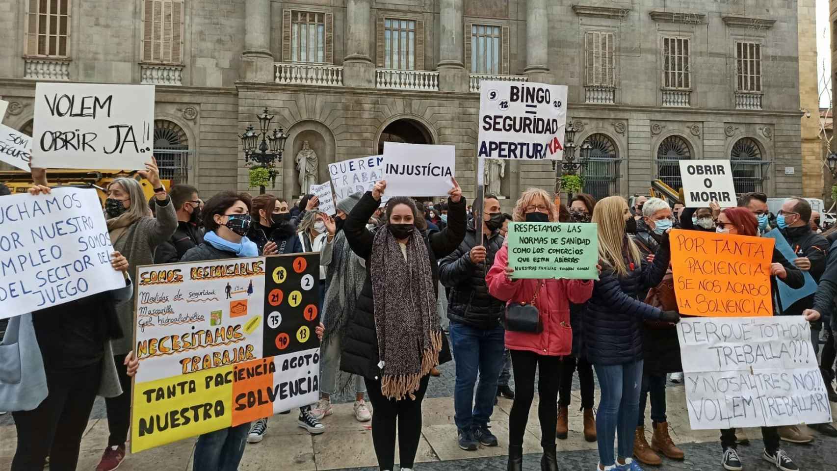
[[[506,348],[532,351],[544,356],[568,356],[573,350],[570,327],[570,303],[583,304],[590,299],[593,281],[589,279],[507,279],[508,246],[497,252],[494,265],[485,276],[488,292],[507,303],[531,303],[541,314],[543,330],[539,334],[506,330]]]

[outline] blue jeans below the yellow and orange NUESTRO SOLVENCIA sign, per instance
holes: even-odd
[[[250,433],[250,422],[198,437],[194,471],[237,471]]]

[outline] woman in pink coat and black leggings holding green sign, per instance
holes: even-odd
[[[530,188],[517,200],[513,218],[516,222],[557,223],[558,209],[547,192]],[[508,266],[508,247],[496,254],[494,266],[485,275],[489,293],[509,303],[537,307],[543,330],[538,334],[506,330],[506,348],[514,366],[515,402],[509,417],[508,471],[523,466],[523,433],[529,407],[535,396],[535,368],[540,370],[538,393],[541,397],[538,417],[541,422],[542,471],[557,471],[555,427],[557,424],[558,380],[561,357],[573,350],[570,327],[570,302],[583,304],[590,299],[593,282],[576,279],[511,279],[514,269]]]

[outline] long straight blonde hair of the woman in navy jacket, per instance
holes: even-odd
[[[598,258],[601,259],[605,268],[612,269],[619,278],[628,275],[625,259],[629,259],[636,266],[642,264],[639,248],[625,233],[626,209],[628,209],[628,202],[624,197],[619,196],[606,197],[593,207],[593,223],[598,224]],[[626,237],[628,239],[627,254],[623,252]]]

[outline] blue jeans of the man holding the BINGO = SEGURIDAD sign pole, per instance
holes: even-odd
[[[454,422],[460,429],[485,425],[494,412],[506,331],[499,324],[493,329],[476,329],[459,322],[451,322],[449,329],[456,361]],[[474,397],[477,372],[480,373],[480,384]]]

